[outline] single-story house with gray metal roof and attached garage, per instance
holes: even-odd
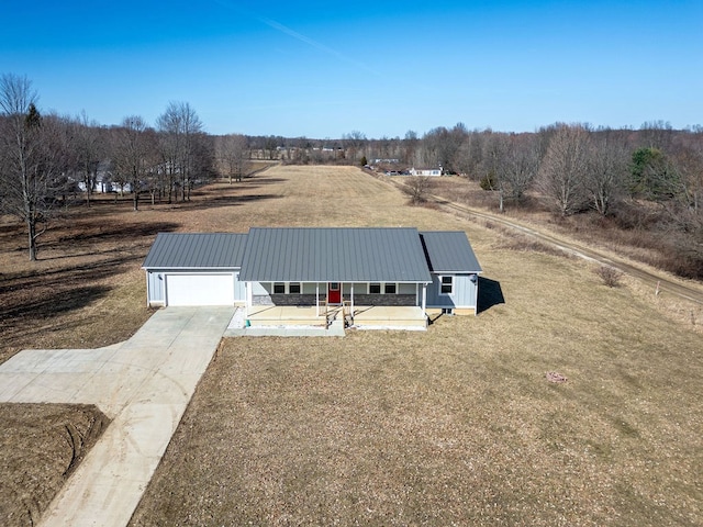
[[[159,233],[143,269],[149,306],[341,306],[352,319],[369,307],[476,313],[482,272],[465,233],[414,227]]]

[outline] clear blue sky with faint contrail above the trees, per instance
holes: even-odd
[[[8,0],[0,72],[41,110],[338,138],[703,124],[703,2]],[[8,23],[9,22],[9,23]]]

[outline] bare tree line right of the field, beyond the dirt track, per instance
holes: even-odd
[[[278,144],[284,162],[359,164],[391,173],[442,168],[479,182],[501,212],[546,208],[559,218],[600,217],[604,227],[646,233],[647,239],[636,243],[667,254],[666,268],[703,278],[700,125],[673,130],[654,121],[634,130],[555,123],[532,133],[502,133],[459,123],[422,136],[409,131],[403,138],[368,139],[353,132],[341,139],[270,136],[253,144],[266,143],[267,152]],[[413,200],[421,201],[417,193],[428,186],[409,182]]]

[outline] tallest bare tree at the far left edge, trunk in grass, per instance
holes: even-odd
[[[26,225],[32,261],[66,171],[63,123],[42,117],[36,100],[26,77],[0,77],[0,195],[3,210]]]

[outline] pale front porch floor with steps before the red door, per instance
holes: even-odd
[[[415,329],[427,327],[419,306],[390,305],[253,305],[246,317],[250,327],[317,326],[333,324],[357,329]]]

